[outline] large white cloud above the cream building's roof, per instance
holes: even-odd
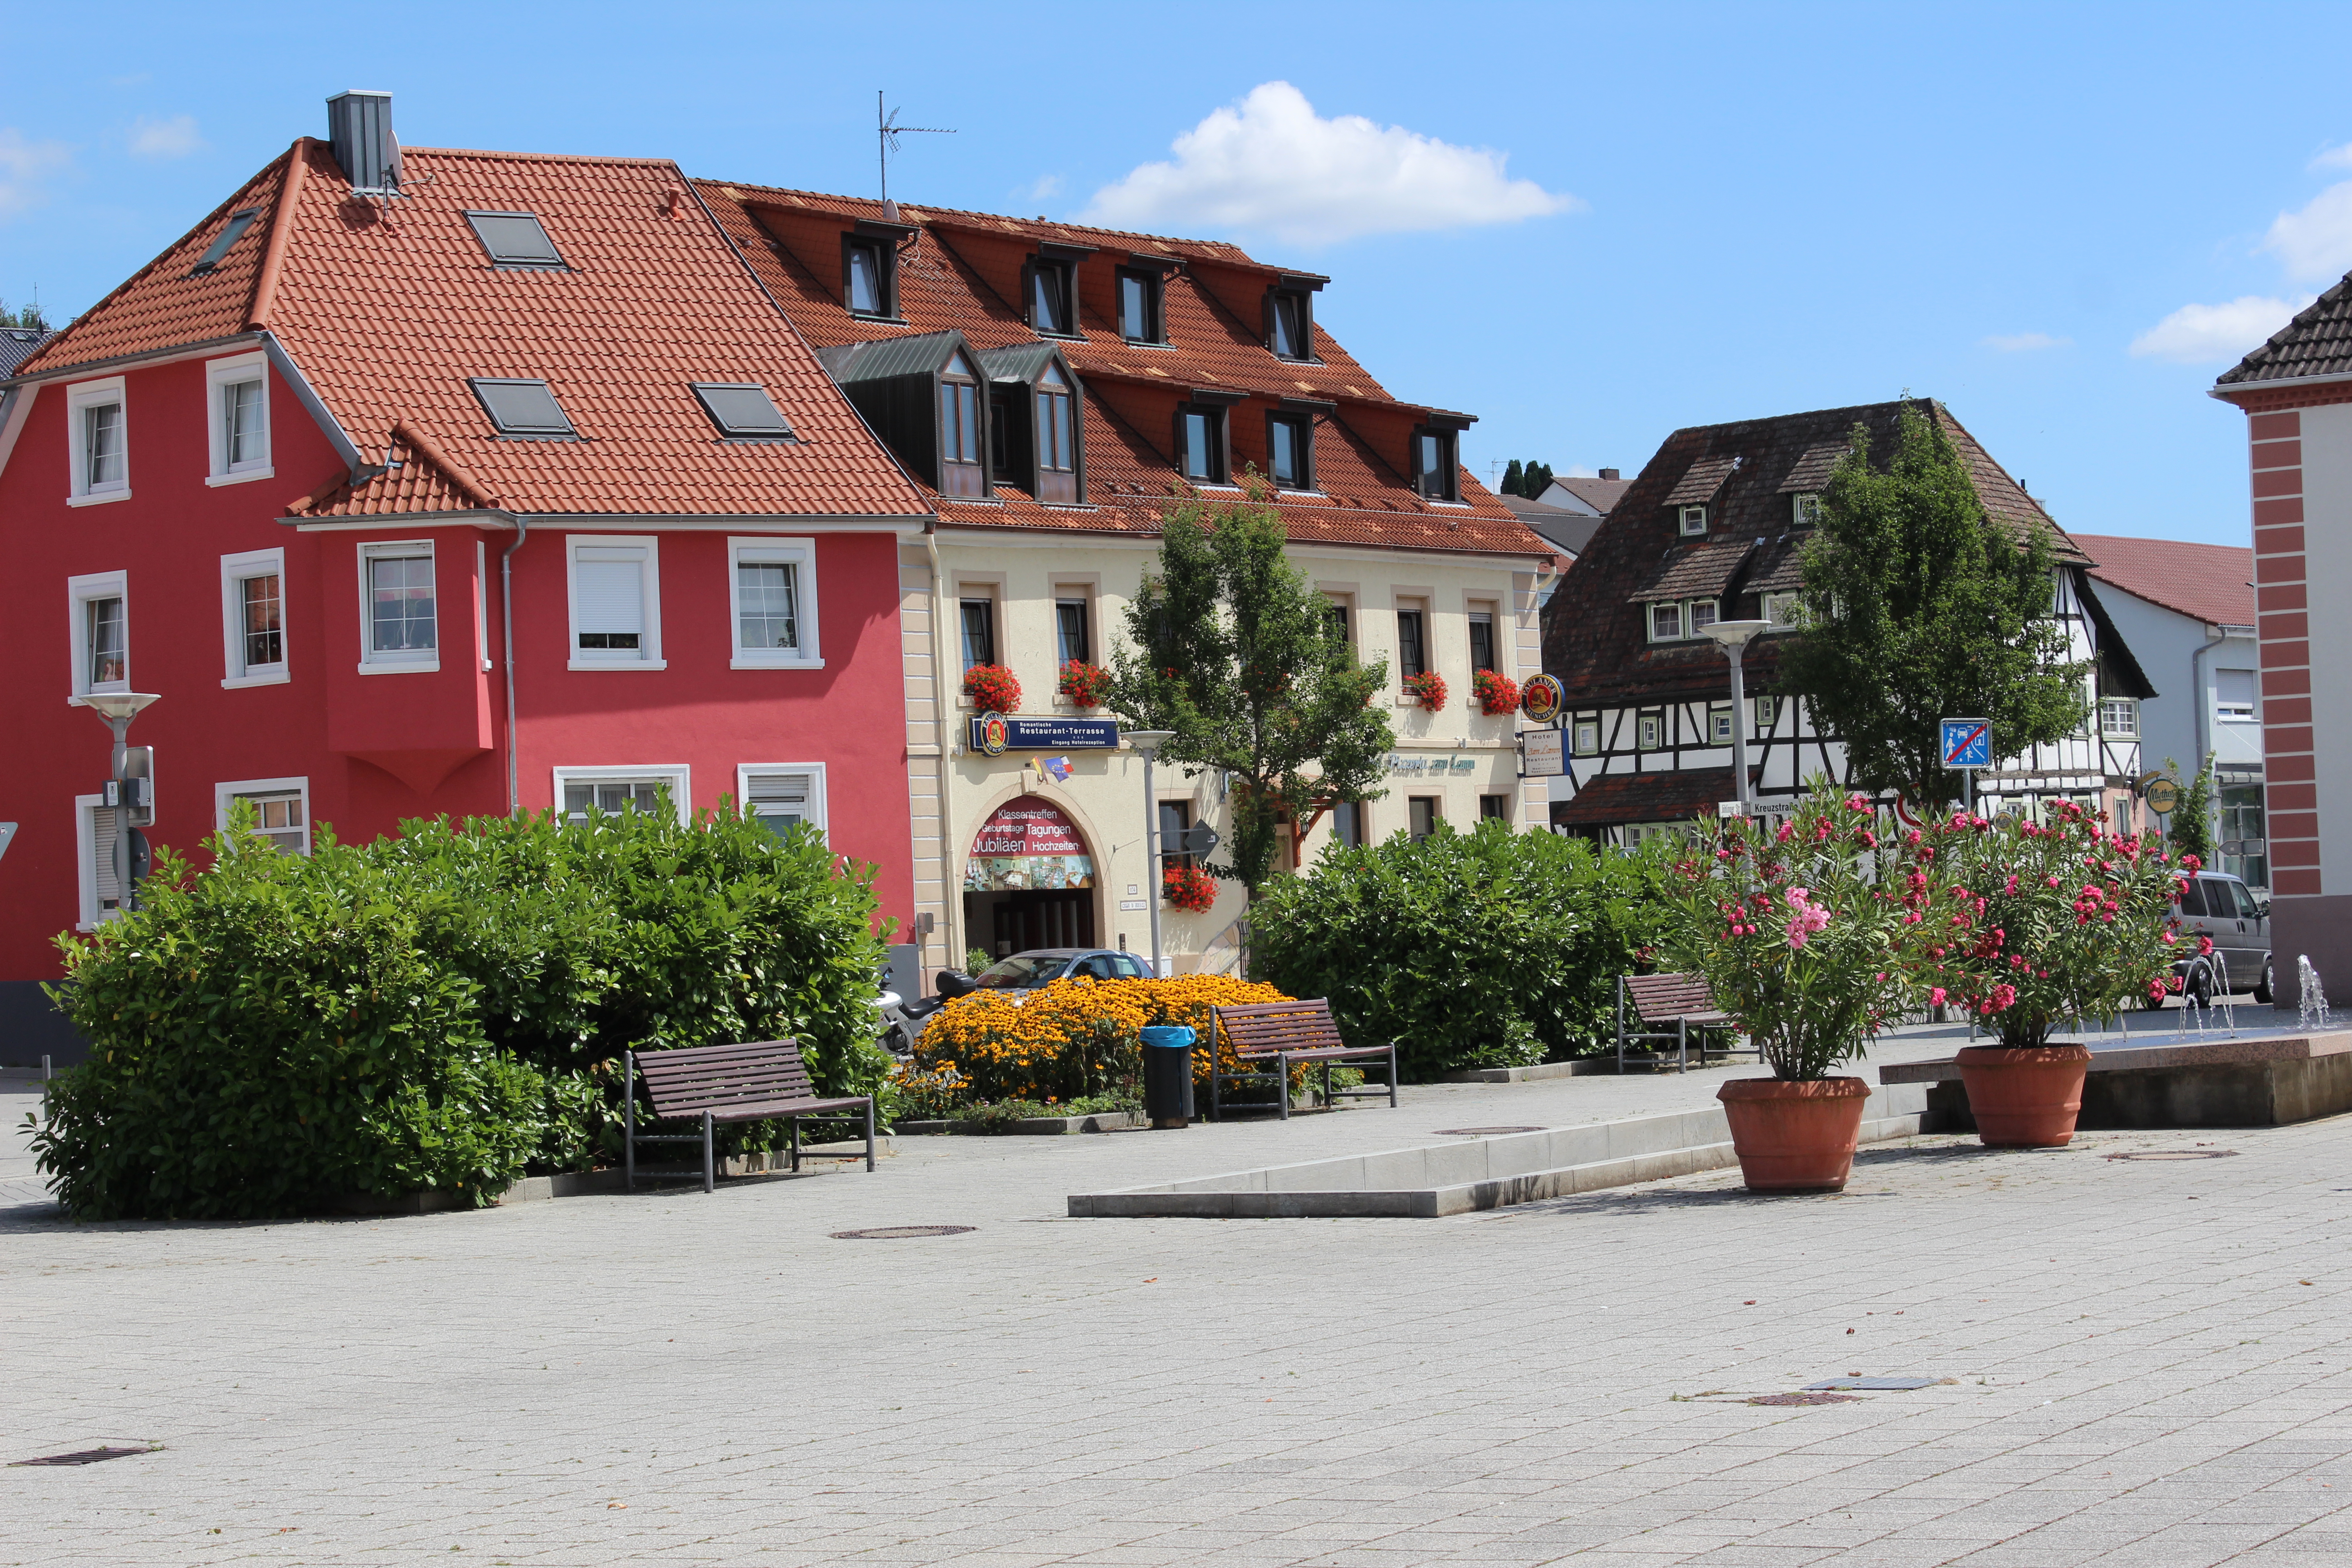
[[[1263,82],[1094,193],[1087,223],[1258,230],[1289,244],[1517,223],[1583,207],[1503,174],[1505,153],[1458,148],[1362,115],[1324,120],[1289,82]]]

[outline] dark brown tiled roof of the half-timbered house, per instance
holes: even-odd
[[[1724,684],[1724,658],[1712,642],[1649,642],[1646,599],[1719,597],[1722,616],[1752,614],[1740,604],[1757,592],[1797,588],[1804,531],[1795,527],[1795,494],[1818,487],[1835,456],[1844,456],[1856,425],[1870,433],[1872,461],[1896,449],[1900,402],[1816,409],[1729,425],[1675,430],[1639,473],[1625,498],[1595,529],[1576,571],[1545,607],[1543,668],[1569,689],[1571,703],[1639,703],[1705,696]],[[1929,400],[1910,407],[1938,421],[1976,482],[1985,512],[2011,529],[2042,529],[2058,559],[2084,552],[1976,442],[1952,414]],[[1823,461],[1823,454],[1832,454]],[[1693,477],[1696,475],[1696,477]],[[1792,487],[1790,477],[1804,484]],[[1708,498],[1708,534],[1682,538],[1677,496]],[[1748,679],[1769,689],[1778,639],[1748,649]]]

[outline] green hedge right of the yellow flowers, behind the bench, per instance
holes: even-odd
[[[1498,820],[1329,846],[1251,907],[1251,973],[1329,997],[1348,1044],[1395,1039],[1414,1079],[1588,1056],[1663,929],[1665,863]]]

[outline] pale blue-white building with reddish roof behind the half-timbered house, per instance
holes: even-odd
[[[2218,870],[2270,886],[2263,820],[2260,646],[2253,550],[2173,538],[2074,534],[2091,588],[2157,693],[2140,703],[2140,759],[2194,778],[2213,759]]]

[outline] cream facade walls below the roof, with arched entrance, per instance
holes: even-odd
[[[1470,825],[1503,816],[1543,825],[1545,783],[1519,778],[1517,715],[1489,717],[1470,696],[1472,637],[1494,668],[1517,682],[1538,672],[1536,602],[1548,585],[1526,557],[1449,555],[1435,550],[1374,550],[1294,545],[1291,559],[1348,616],[1359,656],[1388,665],[1395,750],[1388,755],[1385,795],[1367,802],[1359,825],[1345,813],[1312,823],[1301,863],[1343,832],[1385,839],[1428,830],[1432,820]],[[967,630],[985,618],[995,663],[1021,679],[1018,717],[1105,717],[1056,696],[1063,639],[1082,621],[1087,654],[1110,663],[1127,637],[1127,607],[1148,567],[1155,538],[1070,538],[1014,529],[941,529],[901,550],[901,625],[908,679],[908,788],[915,799],[915,907],[934,917],[924,940],[924,976],[971,947],[1002,957],[1023,947],[1101,945],[1150,952],[1152,875],[1145,849],[1143,762],[1129,748],[1087,750],[1009,748],[990,757],[974,745],[971,698],[962,696]],[[1446,708],[1430,712],[1399,686],[1399,625],[1411,635],[1421,618],[1428,668],[1446,686]],[[1479,632],[1472,632],[1479,625]],[[941,635],[946,632],[946,635]],[[1070,764],[1065,780],[1037,769],[1040,757]],[[1228,832],[1223,778],[1176,764],[1152,769],[1164,820],[1209,823]],[[1087,884],[1014,891],[993,882],[1000,856],[976,853],[983,827],[1007,809],[1035,813],[1037,802],[1068,818],[1084,846]],[[1063,856],[1070,858],[1070,856]],[[1223,863],[1223,853],[1209,856]],[[981,870],[976,870],[981,867]],[[1016,872],[1021,877],[1021,872]],[[1040,882],[1054,882],[1047,870]],[[969,891],[967,891],[969,889]],[[1218,884],[1211,910],[1188,914],[1162,903],[1160,940],[1169,973],[1232,971],[1240,961],[1240,884]]]

